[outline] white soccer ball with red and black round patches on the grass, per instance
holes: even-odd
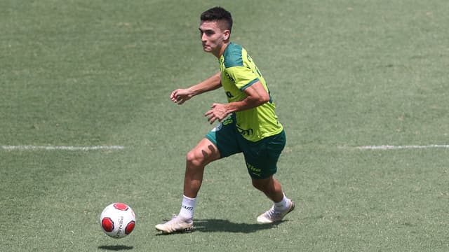
[[[133,232],[135,214],[127,204],[112,203],[102,211],[100,224],[106,235],[123,238]]]

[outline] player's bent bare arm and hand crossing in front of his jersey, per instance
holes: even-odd
[[[230,113],[253,109],[269,102],[269,93],[265,90],[260,80],[246,87],[243,92],[246,93],[247,97],[241,101],[230,102],[229,104],[212,104],[211,109],[204,114],[208,118],[209,123],[212,124],[215,120],[221,121]]]

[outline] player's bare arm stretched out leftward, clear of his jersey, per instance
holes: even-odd
[[[195,95],[202,94],[203,92],[208,92],[211,90],[216,90],[218,87],[222,86],[222,81],[220,78],[221,73],[215,73],[210,78],[201,81],[192,87],[180,88],[173,91],[170,94],[170,99],[175,102],[175,104],[183,104]]]

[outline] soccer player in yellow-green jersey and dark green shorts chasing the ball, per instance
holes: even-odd
[[[201,83],[170,94],[175,104],[223,87],[227,104],[212,104],[205,116],[210,124],[220,121],[213,130],[187,153],[184,195],[179,214],[156,230],[164,233],[190,231],[204,167],[214,160],[243,153],[253,186],[274,202],[257,217],[259,223],[281,221],[295,208],[274,179],[276,163],[286,144],[286,134],[275,113],[272,96],[262,74],[248,52],[230,42],[232,16],[221,7],[201,14],[199,31],[203,50],[217,57],[220,71]]]

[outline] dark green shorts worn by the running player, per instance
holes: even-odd
[[[206,134],[220,151],[220,158],[243,153],[246,168],[252,179],[267,179],[277,171],[279,155],[286,146],[286,133],[282,131],[260,141],[248,141],[239,134],[234,116],[229,117]]]

